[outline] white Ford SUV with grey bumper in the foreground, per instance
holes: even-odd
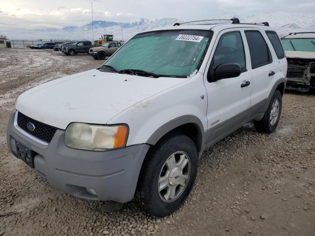
[[[189,25],[135,35],[101,67],[24,92],[10,151],[54,187],[165,216],[193,187],[198,159],[254,121],[274,131],[287,62],[263,24]]]

